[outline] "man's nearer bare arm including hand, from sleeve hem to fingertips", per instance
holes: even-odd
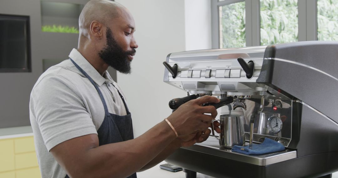
[[[206,130],[209,127],[217,111],[213,106],[201,107],[202,103],[207,102],[219,100],[212,96],[204,96],[189,101],[167,118],[179,136]],[[162,121],[136,139],[99,146],[97,135],[90,134],[62,142],[50,152],[70,177],[125,178],[143,168],[161,152],[163,152],[160,156],[162,160],[164,159],[162,157],[172,153],[177,148],[168,145],[175,143],[173,142],[175,139],[171,127],[166,121]]]

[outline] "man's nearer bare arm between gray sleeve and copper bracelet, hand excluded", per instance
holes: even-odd
[[[97,138],[97,137],[96,137]],[[75,145],[83,145],[75,139]],[[66,169],[70,177],[114,177],[123,178],[147,165],[175,140],[175,134],[163,121],[136,139],[91,149],[77,147],[74,141],[63,142],[53,148],[53,156]],[[62,149],[61,149],[62,148]],[[60,151],[56,151],[56,150]]]

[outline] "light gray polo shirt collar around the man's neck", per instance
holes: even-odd
[[[91,77],[93,79],[93,81],[98,85],[101,86],[106,79],[104,77],[102,77],[100,75],[100,73],[92,66],[92,64],[90,64],[86,58],[84,58],[80,52],[77,51],[77,49],[73,49],[70,54],[69,57],[71,59],[73,59],[73,61],[82,68],[82,70],[84,70],[89,77]],[[107,73],[107,79],[111,79],[111,77],[109,76],[109,73],[107,71],[105,71],[105,73]],[[109,76],[109,77],[108,77]],[[113,79],[112,79],[113,80]]]

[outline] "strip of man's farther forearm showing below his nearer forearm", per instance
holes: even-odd
[[[142,171],[145,171],[147,169],[150,169],[156,166],[157,164],[162,162],[164,159],[166,159],[169,155],[171,155],[179,147],[181,147],[181,141],[178,139],[175,139],[160,154],[158,154],[154,159],[152,159],[147,165],[141,168],[138,172],[142,172]]]

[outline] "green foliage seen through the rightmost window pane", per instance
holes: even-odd
[[[338,0],[317,0],[317,39],[338,40]]]

